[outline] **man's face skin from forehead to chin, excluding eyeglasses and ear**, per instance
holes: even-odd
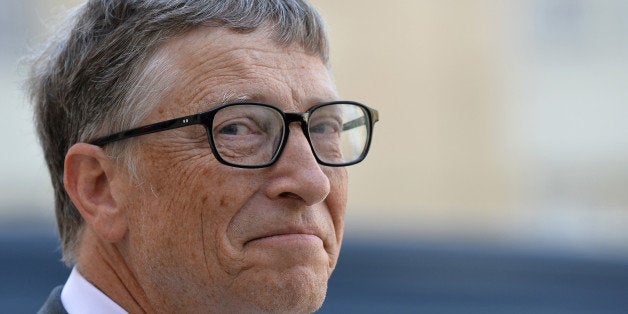
[[[337,99],[323,62],[261,29],[200,29],[169,42],[176,79],[145,123],[234,100],[305,111]],[[140,186],[121,187],[125,261],[157,309],[313,311],[336,265],[344,168],[317,164],[298,124],[268,168],[219,163],[201,126],[141,138]]]

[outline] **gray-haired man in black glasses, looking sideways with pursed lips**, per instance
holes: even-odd
[[[93,0],[70,23],[30,81],[74,265],[40,312],[318,309],[378,118],[338,101],[315,10]]]

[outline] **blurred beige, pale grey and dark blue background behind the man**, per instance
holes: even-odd
[[[20,60],[79,2],[0,11],[6,263],[62,269]],[[628,2],[312,2],[341,94],[381,117],[322,312],[628,311]]]

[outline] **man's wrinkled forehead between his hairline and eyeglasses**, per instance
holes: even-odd
[[[202,28],[164,49],[176,72],[170,103],[186,113],[241,100],[304,111],[337,99],[331,74],[318,56],[297,45],[278,45],[263,28],[244,34]]]

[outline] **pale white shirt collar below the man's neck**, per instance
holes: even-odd
[[[68,281],[61,291],[61,303],[68,314],[126,314],[128,313],[107,295],[89,283],[72,268]]]

